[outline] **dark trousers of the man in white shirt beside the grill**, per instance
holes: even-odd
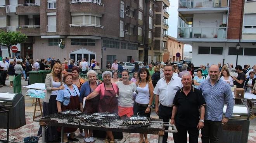
[[[163,106],[162,104],[160,104],[159,111],[158,111],[159,119],[163,119],[164,122],[168,122],[168,124],[169,124],[172,111],[173,111],[173,107],[166,107],[166,106]],[[169,128],[164,127],[164,129],[168,130]],[[163,143],[167,143],[167,138],[168,138],[168,133],[164,133]]]

